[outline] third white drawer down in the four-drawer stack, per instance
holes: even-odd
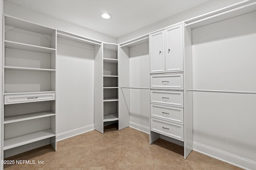
[[[151,104],[150,115],[159,119],[165,119],[167,121],[173,121],[183,124],[184,112],[183,108],[160,106]]]

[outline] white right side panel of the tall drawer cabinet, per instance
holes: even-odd
[[[186,91],[192,88],[192,30],[184,27],[184,158],[193,149],[193,92]]]

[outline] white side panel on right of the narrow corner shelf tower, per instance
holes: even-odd
[[[129,48],[122,47],[118,49],[118,59],[119,59],[119,70],[118,70],[118,86],[129,87]],[[124,129],[129,126],[130,121],[130,89],[119,88],[118,90],[118,117],[119,125],[118,129]]]

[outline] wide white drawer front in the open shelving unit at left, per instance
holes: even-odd
[[[55,100],[55,93],[5,95],[4,104],[17,104]]]

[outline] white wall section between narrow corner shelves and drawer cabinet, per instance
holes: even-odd
[[[148,42],[130,47],[130,87],[149,88]],[[130,126],[149,132],[150,93],[148,89],[130,89]]]

